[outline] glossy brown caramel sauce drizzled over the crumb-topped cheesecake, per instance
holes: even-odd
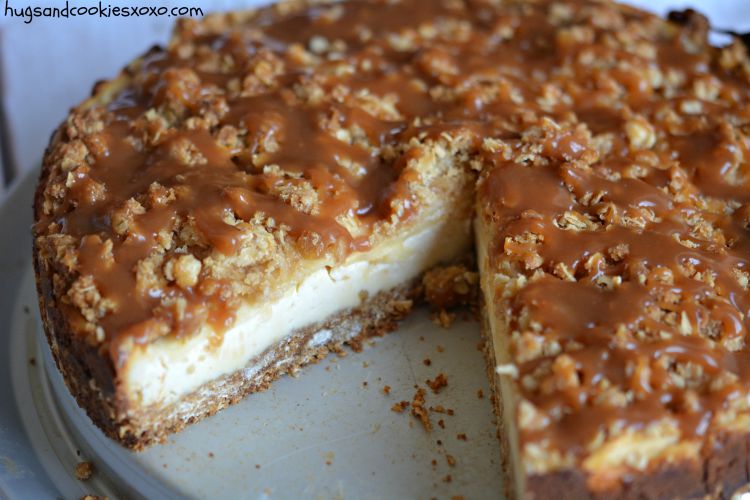
[[[587,16],[598,4],[578,0],[567,3],[570,19],[555,24],[553,4],[365,0],[289,14],[264,9],[223,34],[184,29],[179,35],[189,42],[187,56],[181,55],[179,43],[149,53],[128,88],[109,104],[103,130],[95,134],[94,161],[74,171],[65,206],[42,217],[36,229],[43,233],[59,222],[63,233],[80,241],[76,271],[93,276],[102,296],[115,304],[114,312],[100,319],[115,362],[121,361],[118,346],[127,340],[184,335],[206,321],[221,329],[233,320],[235,304],[225,283],[203,279],[187,289],[174,284],[138,288],[134,268],[158,250],[160,232],[191,220],[205,248],[233,255],[244,233],[227,220],[263,216],[287,227],[304,255],[343,258],[368,248],[367,235],[394,216],[394,204],[403,209],[403,220],[418,210],[409,189],[418,179],[406,173],[416,153],[407,148],[396,159],[386,159],[385,152],[416,137],[463,134],[469,152],[486,164],[479,195],[498,230],[492,264],[511,259],[505,254],[508,237],[541,236],[537,248],[544,276],[512,299],[511,318],[526,311],[538,321],[544,336],[572,358],[579,379],[577,386],[548,392],[519,384],[524,398],[557,415],[543,431],[522,431],[522,442],[548,439],[580,457],[597,433],[618,422],[639,428],[664,417],[679,422],[688,436],[703,435],[712,416],[750,383],[745,346],[750,299],[735,277],[738,270],[748,270],[750,210],[710,211],[695,201],[698,196],[727,204],[750,201],[746,146],[727,128],[728,117],[747,123],[750,86],[737,72],[712,63],[714,49],[694,53],[681,36],[683,28],[671,26],[669,36],[667,30],[652,34],[646,41],[656,53],[649,59],[618,48],[613,33],[631,23],[653,22],[653,17],[624,9],[620,24],[596,26]],[[590,28],[591,37],[563,36],[564,29],[576,25]],[[332,44],[330,57],[300,61],[295,50],[311,47],[315,37]],[[207,54],[231,64],[212,69]],[[272,83],[251,82],[249,95],[230,91],[252,76],[263,57],[280,61],[282,74]],[[614,62],[592,66],[586,58]],[[694,79],[712,75],[723,86],[722,97],[732,102],[724,107],[705,103],[709,112],[676,126],[662,108],[676,107],[679,96],[664,95],[638,71],[653,67],[681,72],[684,85],[678,93],[683,94]],[[196,77],[180,73],[189,68]],[[345,92],[336,99],[305,101],[295,94],[305,86],[329,97]],[[567,99],[551,98],[550,86]],[[378,117],[354,104],[352,96],[363,91],[392,98],[395,115]],[[621,93],[615,102],[613,92]],[[217,96],[222,104],[212,107]],[[137,135],[134,124],[153,109],[183,116],[183,121],[214,112],[217,117],[207,129],[169,129],[156,144],[130,140]],[[636,114],[654,125],[656,144],[649,158],[656,157],[655,162],[644,160],[639,148],[628,143],[625,124]],[[563,123],[560,131],[524,139],[543,116]],[[362,137],[337,138],[324,122],[358,130]],[[225,126],[246,132],[239,151],[217,140]],[[608,136],[610,146],[594,151],[592,134]],[[518,146],[514,155],[524,141],[533,143],[538,146],[534,154],[545,162],[481,151],[485,138]],[[171,155],[183,139],[196,148],[200,164],[185,165]],[[258,157],[262,165],[256,164]],[[342,165],[347,161],[356,172]],[[582,168],[586,162],[590,165]],[[279,169],[266,168],[271,165]],[[633,165],[644,174],[626,175]],[[680,199],[670,194],[675,171],[685,174],[692,194]],[[294,179],[312,184],[320,200],[316,212],[296,209],[275,194],[275,188]],[[117,234],[112,211],[143,197],[153,183],[174,188],[176,199],[149,206],[133,218],[127,236]],[[597,201],[583,203],[592,193]],[[598,225],[564,229],[558,218],[570,211]],[[722,236],[693,234],[686,221],[696,214]],[[364,227],[365,235],[350,234],[342,224],[345,218]],[[599,224],[602,218],[606,224]],[[624,222],[638,218],[645,221],[639,227]],[[111,256],[107,240],[113,242]],[[608,257],[620,244],[627,246],[625,255]],[[524,245],[507,248],[526,251]],[[567,266],[575,281],[555,276],[558,264]],[[711,278],[688,277],[685,269]],[[605,286],[612,277],[622,277],[622,283]],[[660,319],[670,313],[677,316],[676,325]],[[681,329],[683,317],[687,323]],[[511,327],[520,328],[513,322]],[[711,336],[699,334],[707,331]],[[695,389],[694,400],[686,402],[684,387],[675,384],[661,362],[667,358],[697,365],[710,377],[730,374],[731,380],[718,389]],[[553,359],[521,363],[521,376]],[[595,404],[605,380],[630,393],[629,402]]]

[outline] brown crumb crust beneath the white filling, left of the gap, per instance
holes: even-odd
[[[132,450],[164,442],[168,435],[233,405],[250,393],[263,391],[285,374],[295,374],[344,346],[355,351],[371,337],[396,329],[398,320],[411,310],[420,280],[364,300],[354,309],[293,332],[282,342],[251,360],[246,368],[204,384],[188,396],[166,407],[132,411],[116,399],[113,369],[96,349],[75,338],[64,328],[55,307],[48,280],[40,280],[37,266],[40,310],[52,357],[65,384],[93,421],[108,437]]]

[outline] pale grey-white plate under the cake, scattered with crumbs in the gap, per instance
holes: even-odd
[[[423,310],[364,352],[330,356],[298,378],[284,377],[164,445],[132,453],[107,439],[76,406],[57,370],[46,369],[52,362],[28,257],[34,181],[26,179],[0,210],[0,492],[13,499],[500,495],[499,443],[478,325],[458,322],[444,330]],[[427,433],[408,411],[391,411],[411,400],[415,384],[425,387],[441,372],[448,386],[437,395],[427,389],[427,403],[451,408],[453,416],[433,413]],[[98,471],[85,483],[73,474],[84,459]]]

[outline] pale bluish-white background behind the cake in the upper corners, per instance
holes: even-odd
[[[98,1],[98,0],[97,0]],[[71,5],[96,5],[70,0]],[[423,0],[430,2],[434,0]],[[201,7],[204,12],[248,8],[267,0],[103,0],[104,5]],[[633,0],[664,13],[692,6],[716,27],[750,30],[750,0]],[[49,0],[8,0],[15,8],[64,6]],[[94,82],[116,75],[128,61],[154,44],[165,44],[174,19],[168,17],[23,19],[7,16],[0,0],[0,111],[8,151],[0,169],[5,184],[17,181],[39,163],[50,133],[67,111],[85,99]],[[2,177],[0,177],[2,181]],[[2,199],[3,182],[0,182]]]

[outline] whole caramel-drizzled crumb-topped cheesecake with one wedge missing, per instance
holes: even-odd
[[[182,20],[52,137],[34,263],[140,449],[392,330],[474,255],[514,498],[729,497],[750,463],[750,59],[595,0]]]

